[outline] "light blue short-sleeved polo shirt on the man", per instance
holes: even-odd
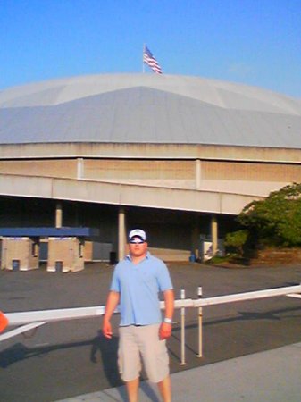
[[[172,289],[172,283],[163,261],[147,252],[139,264],[130,255],[117,264],[110,289],[121,295],[121,326],[150,325],[162,321],[158,293]]]

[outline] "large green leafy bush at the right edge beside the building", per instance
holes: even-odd
[[[253,201],[238,215],[238,222],[263,244],[301,246],[301,183],[274,191],[263,201]]]

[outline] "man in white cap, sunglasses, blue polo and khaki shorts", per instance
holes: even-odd
[[[158,384],[163,402],[171,402],[171,379],[166,339],[171,336],[174,296],[170,274],[163,261],[147,251],[146,232],[131,230],[130,254],[116,265],[105,306],[103,333],[112,338],[110,323],[120,304],[119,367],[130,402],[138,402],[140,356],[150,381]],[[162,321],[158,292],[163,292]]]

